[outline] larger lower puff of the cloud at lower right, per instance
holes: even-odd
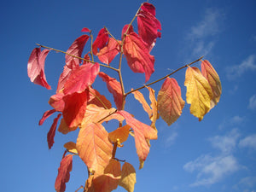
[[[183,166],[185,171],[198,172],[195,183],[190,184],[192,187],[217,183],[239,168],[236,158],[232,155],[212,157],[208,154],[201,155]]]

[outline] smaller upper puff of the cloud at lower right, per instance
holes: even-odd
[[[215,136],[209,139],[213,148],[218,148],[224,154],[230,154],[236,148],[236,141],[240,137],[237,129],[230,131],[225,136]]]

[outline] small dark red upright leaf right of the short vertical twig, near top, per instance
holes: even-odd
[[[92,53],[96,55],[98,49],[102,49],[108,43],[108,32],[105,28],[102,28],[98,33],[94,43],[92,44]]]

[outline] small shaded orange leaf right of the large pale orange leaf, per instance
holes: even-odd
[[[121,147],[121,143],[124,143],[129,137],[131,126],[125,125],[117,128],[108,134],[108,138],[112,143],[118,143],[118,147]]]

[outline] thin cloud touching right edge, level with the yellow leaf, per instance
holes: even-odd
[[[230,80],[241,77],[247,71],[256,70],[256,55],[249,55],[240,65],[226,68],[227,78]]]

